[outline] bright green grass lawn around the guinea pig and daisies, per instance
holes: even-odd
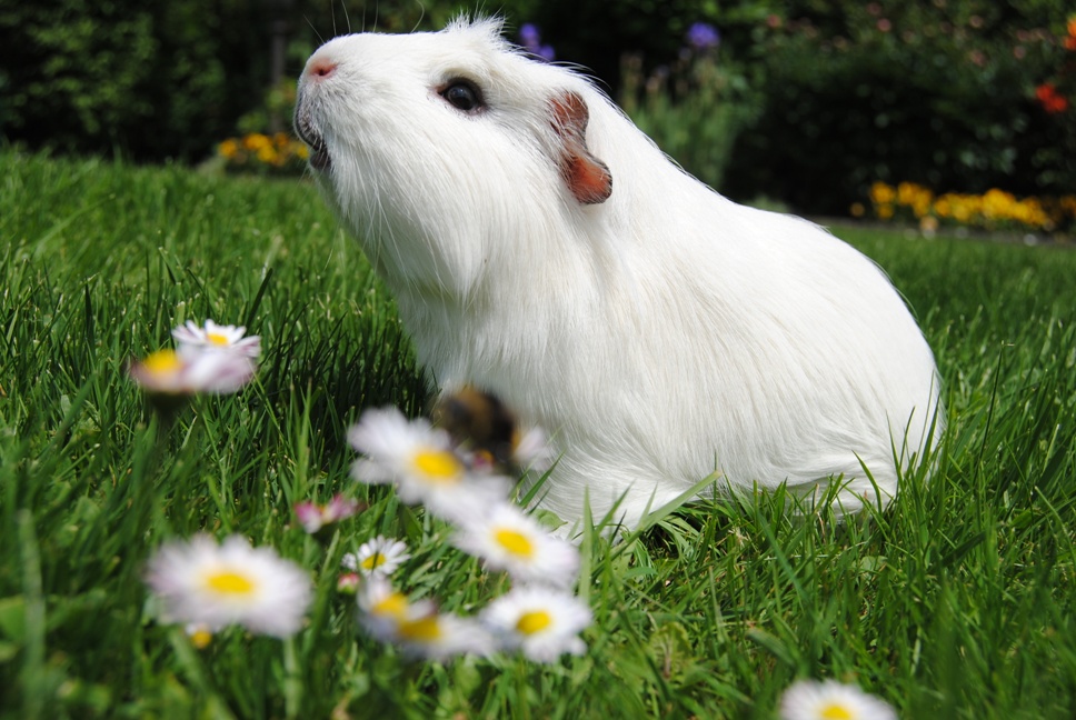
[[[859,683],[904,718],[1076,712],[1076,253],[838,229],[915,308],[949,431],[929,484],[877,517],[686,507],[584,543],[589,652],[410,662],[335,592],[342,552],[406,538],[417,594],[472,611],[506,588],[386,488],[356,487],[343,431],[428,393],[391,299],[302,181],[213,179],[0,152],[0,713],[142,717],[771,718],[796,678]],[[186,319],[262,336],[258,380],[163,430],[131,357]],[[556,476],[551,481],[556,481]],[[352,492],[336,534],[291,504]],[[196,650],[141,580],[206,529],[311,571],[293,639]]]

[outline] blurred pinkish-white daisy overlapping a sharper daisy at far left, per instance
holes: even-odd
[[[173,350],[159,350],[130,367],[131,379],[139,387],[166,396],[236,392],[250,382],[256,370],[253,361],[243,356],[187,356]]]

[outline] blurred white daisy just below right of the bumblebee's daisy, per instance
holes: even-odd
[[[482,558],[522,582],[570,587],[579,571],[579,549],[555,538],[517,507],[501,502],[487,513],[459,521],[452,538],[460,550]]]

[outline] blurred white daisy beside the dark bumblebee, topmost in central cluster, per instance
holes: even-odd
[[[404,502],[424,503],[449,520],[490,507],[510,489],[507,478],[469,473],[447,432],[424,419],[409,421],[396,408],[363,412],[348,442],[367,456],[352,468],[356,480],[395,482]]]

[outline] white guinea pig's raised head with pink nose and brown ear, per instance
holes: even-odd
[[[598,212],[582,78],[494,21],[336,38],[307,62],[295,126],[329,202],[393,290],[466,298]]]

